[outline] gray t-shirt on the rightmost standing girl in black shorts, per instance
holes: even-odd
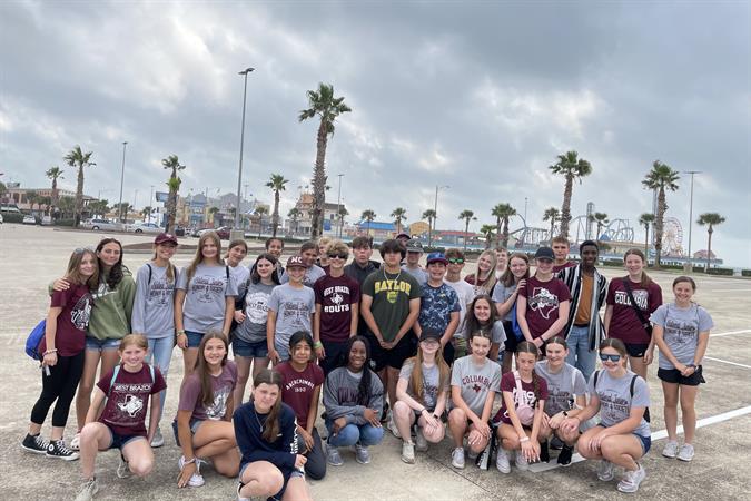
[[[673,356],[682,364],[692,364],[699,345],[699,333],[714,326],[712,317],[698,304],[688,308],[679,308],[674,303],[663,304],[650,317],[654,325],[663,328],[665,344]],[[675,369],[668,357],[660,352],[660,369]]]

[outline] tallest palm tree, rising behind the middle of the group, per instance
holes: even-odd
[[[326,203],[326,145],[328,137],[334,135],[336,118],[352,109],[344,104],[344,97],[334,97],[334,86],[318,84],[318,90],[308,90],[308,109],[299,112],[299,121],[315,116],[320,117],[316,140],[316,165],[313,169],[313,220],[310,222],[310,237],[317,238],[324,229],[324,205]]]

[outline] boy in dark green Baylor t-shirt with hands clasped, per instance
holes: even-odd
[[[404,246],[396,239],[381,244],[384,266],[373,272],[362,288],[360,313],[367,324],[366,338],[370,344],[375,372],[388,392],[392,407],[396,403],[396,383],[402,364],[416,351],[415,336],[409,334],[419,315],[422,294],[415,277],[399,267],[405,254]]]

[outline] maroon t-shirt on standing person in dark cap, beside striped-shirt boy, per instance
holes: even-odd
[[[562,302],[571,301],[569,287],[562,279],[555,277],[549,282],[541,282],[537,277],[531,276],[520,294],[526,297],[526,323],[532,338],[543,335],[559,320],[559,306]],[[560,335],[564,328],[554,335]]]

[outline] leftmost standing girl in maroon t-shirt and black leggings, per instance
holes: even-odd
[[[45,337],[38,348],[43,356],[42,392],[31,410],[29,433],[21,443],[29,452],[65,460],[78,459],[78,453],[68,449],[62,441],[62,432],[83,371],[86,327],[93,304],[90,291],[99,284],[98,273],[95,252],[76,249],[68,259],[65,276],[70,287],[52,293]],[[40,432],[53,403],[51,442],[47,442]]]

